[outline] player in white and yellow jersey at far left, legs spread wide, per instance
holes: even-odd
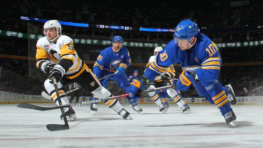
[[[67,83],[78,83],[85,91],[96,95],[98,98],[111,97],[112,94],[102,87],[96,76],[88,66],[78,57],[73,46],[73,40],[61,34],[61,25],[58,20],[49,20],[44,24],[45,37],[37,42],[36,66],[45,74],[48,79],[44,82],[44,87],[52,97],[54,102],[59,105],[56,95],[54,82],[58,82],[58,90],[62,105],[69,104],[69,100],[64,92],[63,85]],[[124,119],[131,119],[130,113],[115,100],[104,102]],[[65,107],[64,114],[68,120],[77,120],[75,111],[72,107]]]

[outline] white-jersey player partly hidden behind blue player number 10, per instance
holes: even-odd
[[[161,50],[162,50],[162,47],[156,47],[154,49],[154,55],[150,57],[146,65],[146,68],[149,67],[149,65],[154,62],[154,60],[156,59],[156,56],[159,54]],[[174,66],[171,65],[163,76],[162,75],[157,76],[151,83],[149,83],[147,89],[155,89],[155,88],[162,87],[165,85],[173,85],[174,80],[168,79],[167,77],[172,78],[174,76],[175,76],[175,69],[174,69]],[[161,91],[148,92],[153,102],[159,106],[160,112],[162,113],[167,112],[168,102],[166,101],[165,97],[162,97],[163,93],[165,94],[167,93],[168,95],[166,94],[165,96],[170,96],[175,101],[175,103],[182,109],[183,113],[185,114],[189,113],[190,111],[189,105],[183,100],[183,98],[180,95],[175,93],[175,89],[167,89],[167,90],[162,90],[162,91],[164,92],[161,92]]]

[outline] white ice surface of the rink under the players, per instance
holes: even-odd
[[[162,114],[155,104],[140,104],[144,114],[122,119],[104,104],[96,115],[90,105],[74,107],[78,121],[51,132],[46,124],[64,124],[60,110],[37,111],[0,105],[0,148],[263,148],[263,106],[232,106],[239,127],[229,127],[214,105],[190,104],[188,115],[175,104]],[[36,104],[53,106],[54,104]]]

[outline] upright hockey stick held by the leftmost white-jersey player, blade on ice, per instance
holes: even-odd
[[[56,81],[56,78],[53,77],[53,82],[54,82],[54,86],[55,86],[55,90],[56,90],[56,94],[57,94],[57,98],[58,98],[58,103],[59,103],[59,106],[61,107],[62,106],[62,103],[61,103],[61,98],[59,96],[59,91],[58,91],[58,83]],[[65,107],[65,106],[64,106]],[[66,118],[66,115],[64,113],[64,109],[63,107],[60,108],[60,111],[62,113],[62,117],[64,119],[64,123],[65,124],[47,124],[46,125],[46,128],[49,130],[49,131],[59,131],[59,130],[68,130],[70,127],[69,127],[69,123],[68,123],[68,120]]]

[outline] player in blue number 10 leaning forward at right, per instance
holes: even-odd
[[[137,90],[152,81],[156,76],[164,74],[166,69],[180,63],[183,72],[176,84],[179,90],[188,90],[193,84],[198,94],[210,103],[217,105],[227,124],[237,127],[236,116],[228,100],[228,94],[234,93],[223,87],[218,81],[221,57],[218,48],[208,37],[199,32],[195,22],[185,19],[175,28],[174,40],[170,41],[160,52],[155,61],[146,69],[141,80],[133,80],[129,97],[133,98]],[[173,89],[167,93],[180,97]]]

